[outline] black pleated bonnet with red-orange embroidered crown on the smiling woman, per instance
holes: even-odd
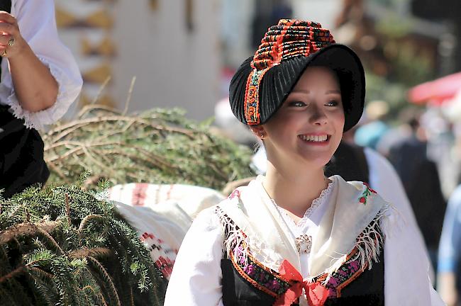
[[[365,103],[365,72],[360,59],[336,44],[320,23],[282,19],[267,30],[254,57],[230,81],[230,108],[241,122],[260,125],[277,112],[309,65],[326,66],[338,74],[344,130],[357,124]]]

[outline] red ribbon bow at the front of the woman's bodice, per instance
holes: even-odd
[[[287,260],[282,262],[279,271],[280,276],[286,280],[294,281],[294,284],[275,300],[274,306],[290,306],[301,296],[303,288],[306,292],[309,306],[323,306],[328,297],[327,288],[319,283],[309,283],[303,280],[301,274]]]

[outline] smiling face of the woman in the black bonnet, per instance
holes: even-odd
[[[272,164],[294,162],[315,167],[330,161],[343,128],[340,85],[326,67],[308,67],[277,113],[262,125]]]

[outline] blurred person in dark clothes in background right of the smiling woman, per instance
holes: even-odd
[[[420,125],[421,113],[415,108],[403,111],[401,120],[410,133],[389,148],[388,158],[404,184],[433,266],[436,266],[446,202],[437,164],[428,158],[426,133]]]

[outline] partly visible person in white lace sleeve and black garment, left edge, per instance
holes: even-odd
[[[48,179],[37,130],[65,114],[82,77],[57,36],[54,1],[1,1],[0,33],[0,188],[9,198]]]

